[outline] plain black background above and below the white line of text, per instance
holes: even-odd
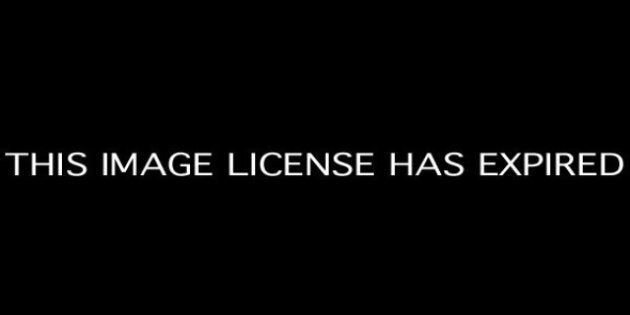
[[[614,10],[265,9],[275,14],[29,9],[6,23],[0,148],[627,156]],[[3,167],[5,270],[14,296],[65,297],[55,304],[616,299],[625,172],[497,179],[473,166],[455,179],[12,178]]]

